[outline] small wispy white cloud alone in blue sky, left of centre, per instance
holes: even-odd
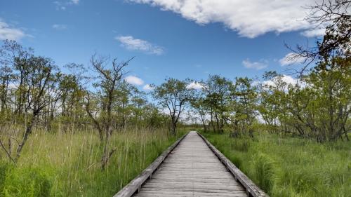
[[[156,46],[142,39],[134,39],[133,36],[117,36],[114,39],[117,39],[121,43],[121,46],[128,50],[140,50],[144,53],[155,55],[161,55],[164,53],[164,49],[160,46]]]

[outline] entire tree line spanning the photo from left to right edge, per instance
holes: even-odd
[[[291,60],[306,60],[294,83],[274,71],[266,72],[260,81],[247,77],[232,81],[219,75],[205,81],[170,78],[153,85],[148,95],[124,80],[133,58],[118,62],[94,54],[91,72],[87,72],[83,64],[58,67],[51,58],[34,55],[32,48],[4,41],[0,48],[0,147],[16,163],[35,129],[54,133],[91,128],[104,147],[104,169],[115,151],[110,145],[113,133],[126,131],[128,126],[169,126],[176,135],[184,111],[196,114],[205,131],[229,130],[231,137],[253,137],[260,130],[258,125],[265,125],[270,132],[318,142],[349,140],[349,7],[350,1],[340,0],[311,8],[325,15],[310,20],[328,25],[317,47],[293,50]]]

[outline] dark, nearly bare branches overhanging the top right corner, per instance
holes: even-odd
[[[300,76],[309,65],[323,58],[326,54],[351,55],[351,1],[328,0],[316,2],[306,7],[310,10],[305,20],[316,28],[326,28],[322,41],[317,46],[297,45],[296,48],[285,44],[293,53],[290,60],[304,59],[305,66],[300,70]]]

